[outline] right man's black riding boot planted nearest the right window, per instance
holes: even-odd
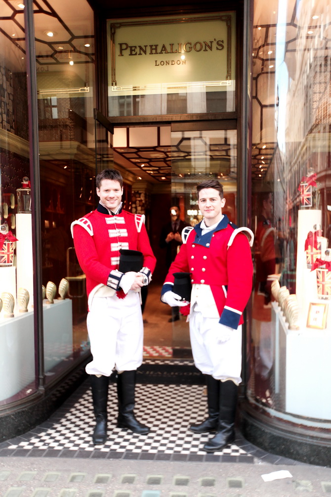
[[[235,438],[234,423],[236,416],[238,387],[232,380],[220,383],[219,417],[216,435],[204,444],[206,452],[222,450]]]

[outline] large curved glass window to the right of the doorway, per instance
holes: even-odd
[[[331,419],[330,34],[327,1],[254,3],[248,398],[315,430]]]

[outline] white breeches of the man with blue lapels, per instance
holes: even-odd
[[[203,374],[216,380],[241,382],[242,327],[231,332],[231,338],[217,341],[218,318],[204,318],[200,312],[190,315],[190,338],[195,365]]]

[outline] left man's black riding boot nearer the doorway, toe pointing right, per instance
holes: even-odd
[[[145,435],[149,432],[148,426],[141,424],[133,414],[134,409],[135,370],[123,371],[117,375],[117,395],[119,400],[119,415],[117,426],[129,428],[134,433]]]

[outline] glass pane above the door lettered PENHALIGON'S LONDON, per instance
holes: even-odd
[[[235,111],[235,12],[109,20],[109,116]]]

